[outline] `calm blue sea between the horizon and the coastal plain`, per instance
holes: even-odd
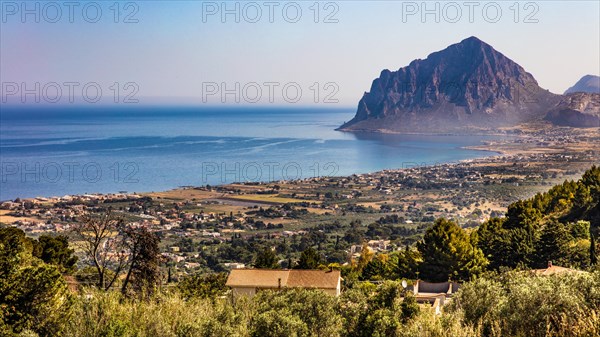
[[[494,153],[335,131],[354,109],[2,107],[0,200],[343,176]]]

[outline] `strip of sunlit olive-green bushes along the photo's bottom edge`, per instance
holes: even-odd
[[[148,300],[85,289],[48,319],[61,336],[597,336],[600,273],[488,275],[466,283],[442,315],[398,282],[364,283],[335,298],[318,290],[229,298],[178,291]],[[525,314],[526,313],[526,314]],[[65,319],[69,317],[69,319]],[[31,328],[35,329],[34,326]],[[10,330],[8,330],[10,331]],[[9,334],[5,330],[6,334]],[[51,335],[47,332],[40,335]],[[31,330],[20,330],[34,336]],[[10,334],[9,334],[10,335]]]

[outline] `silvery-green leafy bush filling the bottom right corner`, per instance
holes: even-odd
[[[484,336],[597,336],[600,274],[511,271],[465,284],[451,311]]]

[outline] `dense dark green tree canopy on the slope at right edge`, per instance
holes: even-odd
[[[578,181],[565,181],[548,192],[517,201],[503,219],[491,218],[477,230],[477,245],[500,267],[542,268],[548,261],[586,268],[595,261],[600,228],[600,167]]]

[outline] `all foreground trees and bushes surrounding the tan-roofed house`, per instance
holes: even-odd
[[[476,230],[438,219],[416,245],[392,254],[365,249],[358,261],[326,265],[319,246],[308,246],[294,267],[342,269],[340,297],[291,289],[235,302],[224,274],[163,286],[159,238],[109,215],[75,232],[87,247],[89,282],[75,277],[65,237],[0,228],[0,335],[598,336],[599,201],[600,168],[592,167]],[[257,251],[255,266],[278,268],[276,252]],[[530,271],[549,259],[578,270]],[[435,315],[405,292],[403,278],[464,283]]]

